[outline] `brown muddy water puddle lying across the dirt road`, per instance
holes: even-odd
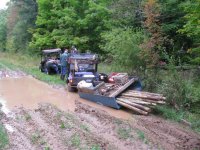
[[[115,110],[106,106],[81,99],[77,93],[69,93],[63,89],[55,89],[33,77],[0,79],[0,102],[9,110],[23,106],[36,109],[39,103],[51,103],[62,110],[75,110],[75,100],[94,108],[106,111],[111,116],[123,119],[132,118],[132,114],[124,110]]]

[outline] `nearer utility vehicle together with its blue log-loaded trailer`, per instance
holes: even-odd
[[[126,107],[142,115],[148,115],[151,106],[165,103],[161,94],[141,92],[141,82],[127,73],[111,73],[102,81],[97,73],[98,56],[95,54],[72,54],[68,63],[68,90],[78,89],[81,98],[115,109]]]

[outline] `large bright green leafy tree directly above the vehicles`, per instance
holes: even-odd
[[[100,33],[107,29],[109,11],[106,1],[38,0],[37,29],[32,47],[71,47],[98,52]]]

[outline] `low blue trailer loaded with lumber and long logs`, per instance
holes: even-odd
[[[125,107],[141,115],[148,115],[152,106],[165,104],[163,95],[140,91],[138,78],[128,77],[126,73],[114,76],[109,77],[108,83],[96,81],[93,88],[78,88],[79,96],[115,109]]]

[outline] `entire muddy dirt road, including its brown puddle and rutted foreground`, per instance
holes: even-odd
[[[200,135],[180,124],[97,105],[22,72],[0,71],[0,102],[9,150],[200,149]]]

